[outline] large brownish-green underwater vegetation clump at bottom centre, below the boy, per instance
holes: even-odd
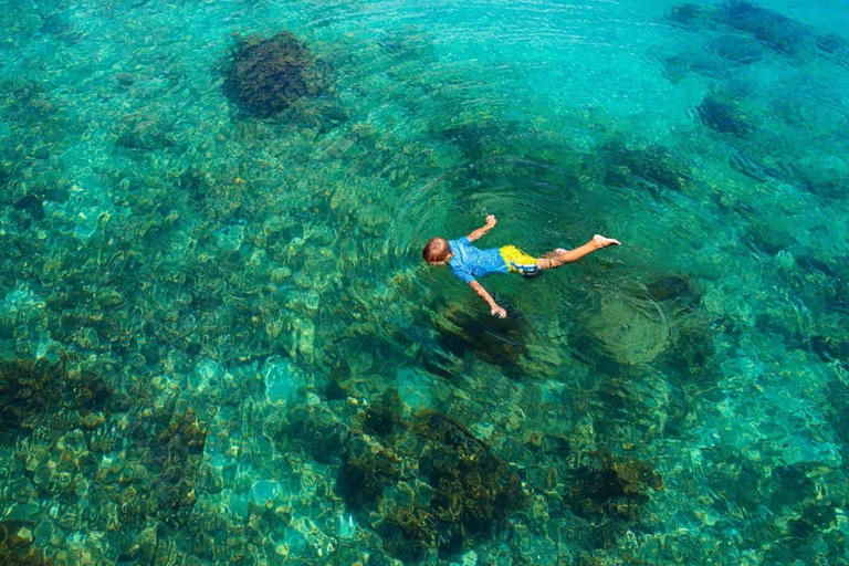
[[[453,556],[525,506],[513,467],[459,422],[423,411],[410,424],[392,389],[376,405],[352,428],[337,488],[390,554]]]

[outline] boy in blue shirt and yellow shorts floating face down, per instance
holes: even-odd
[[[507,316],[507,312],[495,303],[485,289],[474,277],[483,277],[490,273],[518,273],[523,276],[537,275],[542,270],[559,268],[564,263],[577,261],[608,245],[621,245],[619,240],[596,234],[593,240],[580,248],[566,251],[562,248],[548,252],[542,258],[533,258],[515,245],[491,248],[480,250],[471,242],[480,239],[495,226],[495,217],[489,214],[483,228],[479,228],[469,235],[459,240],[448,241],[444,238],[431,238],[424,245],[421,254],[424,261],[431,265],[444,265],[448,263],[451,271],[471,286],[478,295],[486,301],[493,315],[499,318]]]

